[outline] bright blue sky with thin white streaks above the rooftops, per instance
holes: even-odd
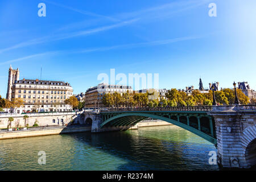
[[[46,4],[46,17],[38,4]],[[217,17],[210,17],[209,3]],[[71,83],[74,93],[100,73],[159,73],[159,88],[248,81],[256,89],[256,1],[0,1],[0,94],[8,69],[20,79]],[[131,85],[133,86],[133,85]]]

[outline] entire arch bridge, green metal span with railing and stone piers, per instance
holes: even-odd
[[[256,105],[84,111],[84,122],[92,122],[93,133],[127,130],[146,118],[172,123],[213,143],[220,167],[256,167]]]

